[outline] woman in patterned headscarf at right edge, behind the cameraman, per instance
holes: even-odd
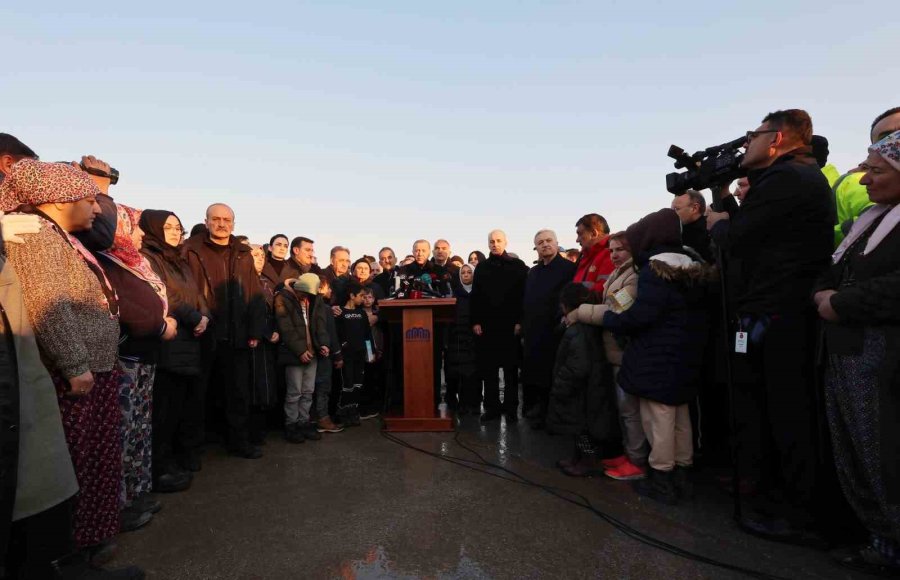
[[[861,166],[875,203],[817,285],[826,321],[825,404],[844,494],[871,534],[835,554],[848,567],[900,573],[900,131]]]

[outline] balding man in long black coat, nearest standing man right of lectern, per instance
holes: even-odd
[[[506,253],[506,234],[488,235],[490,256],[475,269],[472,283],[472,331],[475,333],[479,366],[484,378],[483,422],[506,415],[518,421],[519,369],[517,362],[522,326],[522,300],[528,267]],[[503,403],[500,402],[498,371],[503,369]]]

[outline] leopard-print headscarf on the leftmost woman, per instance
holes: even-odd
[[[22,159],[0,184],[0,211],[23,204],[71,203],[100,193],[87,173],[71,165]]]

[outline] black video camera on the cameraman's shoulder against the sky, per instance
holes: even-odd
[[[677,145],[669,147],[668,156],[675,160],[675,169],[687,169],[683,173],[666,175],[666,189],[673,195],[681,195],[688,189],[700,191],[715,185],[731,183],[747,172],[741,168],[744,154],[740,148],[747,142],[746,136],[734,141],[708,147],[693,155],[685,153]]]

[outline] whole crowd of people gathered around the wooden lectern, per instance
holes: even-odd
[[[579,250],[537,232],[530,266],[494,230],[465,260],[417,240],[323,268],[312,238],[251,243],[224,203],[188,236],[113,200],[104,161],[0,134],[2,577],[141,578],[103,568],[115,536],[188,490],[210,442],[259,459],[273,425],[312,442],[402,405],[379,303],[420,295],[456,298],[436,413],[523,417],[571,438],[563,473],[666,505],[695,456],[736,463],[746,532],[900,571],[900,108],[844,175],[812,137],[771,113],[712,207],[688,190],[615,233],[590,213]]]

